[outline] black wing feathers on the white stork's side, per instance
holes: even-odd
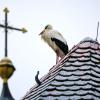
[[[52,41],[55,42],[55,44],[63,51],[63,53],[66,55],[68,53],[68,45],[65,44],[64,42],[56,39],[56,38],[51,38]]]

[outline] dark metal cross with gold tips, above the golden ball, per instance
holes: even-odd
[[[7,50],[7,48],[8,48],[8,29],[21,31],[23,33],[27,32],[27,30],[25,28],[19,29],[19,28],[8,26],[8,18],[7,17],[8,17],[9,10],[7,8],[5,8],[4,13],[5,13],[5,23],[4,23],[4,25],[0,24],[0,27],[5,29],[5,57],[7,57],[8,56],[8,50]]]

